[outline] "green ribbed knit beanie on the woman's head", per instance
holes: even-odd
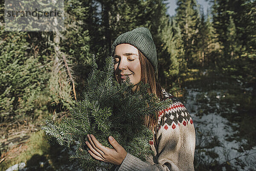
[[[154,72],[157,71],[157,49],[151,33],[147,28],[139,27],[131,32],[126,32],[119,35],[119,37],[116,38],[112,44],[111,55],[114,55],[115,47],[122,43],[130,44],[139,49],[154,67]]]

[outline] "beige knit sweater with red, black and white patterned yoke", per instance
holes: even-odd
[[[195,128],[192,118],[179,99],[164,89],[162,91],[163,99],[171,98],[173,103],[159,111],[157,132],[154,132],[157,144],[149,142],[154,156],[143,162],[127,153],[115,171],[194,171]]]

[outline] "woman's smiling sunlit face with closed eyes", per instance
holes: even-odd
[[[140,82],[140,60],[138,49],[130,44],[119,44],[115,48],[115,76],[119,82],[124,81],[124,75],[128,74],[135,85]]]

